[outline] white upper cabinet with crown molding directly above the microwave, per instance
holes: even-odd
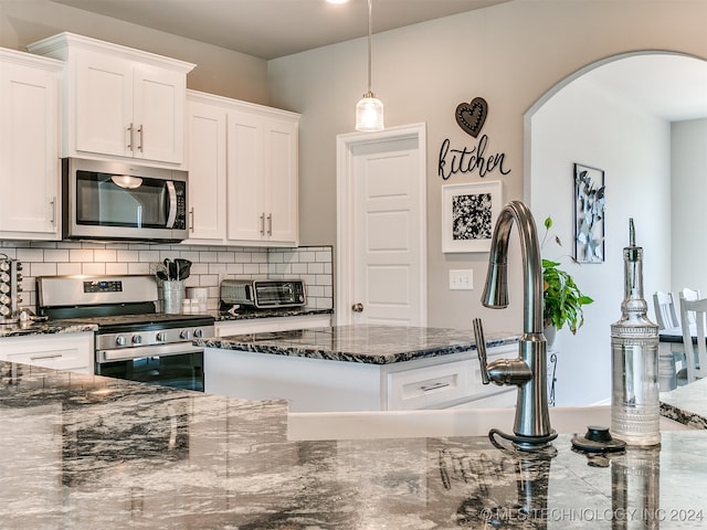
[[[183,162],[193,64],[72,33],[28,49],[66,62],[63,156]]]

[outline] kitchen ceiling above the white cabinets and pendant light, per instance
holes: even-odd
[[[271,60],[368,34],[367,0],[52,0]],[[373,0],[373,32],[510,0]]]

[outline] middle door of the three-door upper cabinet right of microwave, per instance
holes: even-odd
[[[268,213],[263,205],[263,120],[230,112],[228,130],[228,239],[262,241]]]

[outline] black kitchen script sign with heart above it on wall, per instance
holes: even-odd
[[[457,125],[464,132],[478,138],[486,116],[488,115],[488,104],[483,97],[475,97],[472,103],[460,103],[454,112]],[[505,152],[486,153],[488,147],[488,136],[482,135],[478,142],[473,147],[462,148],[451,147],[451,141],[445,138],[440,148],[440,159],[437,173],[442,179],[447,180],[456,173],[478,172],[484,178],[487,174],[498,171],[500,174],[510,173],[510,169],[504,167],[506,161]]]

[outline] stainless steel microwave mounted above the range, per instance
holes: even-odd
[[[62,160],[63,237],[176,243],[188,236],[186,171]]]

